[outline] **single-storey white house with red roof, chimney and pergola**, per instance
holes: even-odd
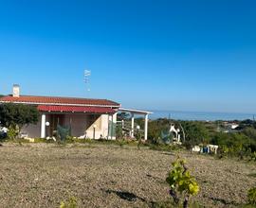
[[[22,130],[31,138],[52,136],[57,125],[68,127],[71,135],[92,139],[116,139],[117,114],[119,111],[145,116],[144,139],[148,134],[149,112],[121,109],[120,104],[108,99],[87,99],[58,96],[20,95],[19,85],[13,85],[12,95],[0,98],[1,103],[19,103],[36,106],[40,121]],[[134,116],[133,116],[134,119]],[[132,125],[132,129],[134,126]]]

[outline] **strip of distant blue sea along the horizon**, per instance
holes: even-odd
[[[152,111],[151,119],[171,118],[174,120],[198,120],[198,121],[215,121],[215,120],[246,120],[253,119],[256,113],[203,113],[203,112],[176,112],[176,111]]]

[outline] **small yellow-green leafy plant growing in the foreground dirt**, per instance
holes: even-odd
[[[183,207],[187,208],[191,197],[198,194],[199,185],[185,166],[185,161],[178,158],[173,163],[173,167],[173,170],[169,172],[166,179],[171,188],[170,195],[176,205],[183,199]]]

